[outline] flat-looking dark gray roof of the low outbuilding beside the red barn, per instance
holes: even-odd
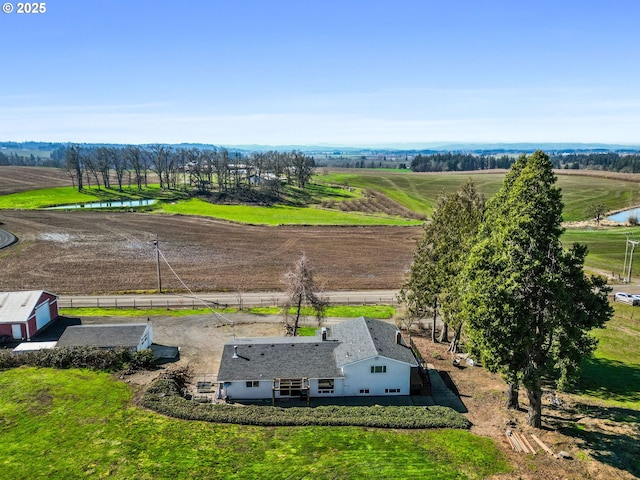
[[[58,347],[136,347],[145,329],[146,323],[128,323],[121,325],[73,325],[67,327],[58,340]]]

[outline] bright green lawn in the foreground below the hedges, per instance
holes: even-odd
[[[104,373],[0,373],[3,478],[433,478],[510,471],[464,430],[250,427],[176,420]]]

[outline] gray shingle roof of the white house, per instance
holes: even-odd
[[[415,365],[404,341],[396,344],[396,331],[392,324],[361,317],[331,327],[326,341],[320,336],[237,339],[224,347],[218,380],[337,378],[343,365],[377,355]]]

